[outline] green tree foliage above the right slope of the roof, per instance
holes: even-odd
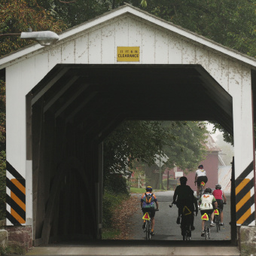
[[[141,5],[157,17],[256,57],[255,0],[143,0]]]

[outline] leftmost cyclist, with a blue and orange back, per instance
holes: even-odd
[[[154,215],[155,215],[154,204],[156,204],[157,210],[158,210],[157,197],[155,196],[154,193],[152,193],[152,187],[148,186],[146,187],[146,193],[142,195],[141,207],[142,207],[143,214],[145,214],[145,212],[148,212],[151,215],[151,236],[154,236]],[[145,224],[146,223],[144,220],[144,223],[142,226],[143,229],[145,229]]]

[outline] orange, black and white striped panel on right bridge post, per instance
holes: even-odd
[[[254,212],[254,168],[251,162],[236,178],[236,224],[254,225]]]

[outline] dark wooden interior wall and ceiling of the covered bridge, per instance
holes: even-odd
[[[124,120],[215,120],[232,97],[197,65],[57,65],[27,95],[35,245],[100,237],[102,142]]]

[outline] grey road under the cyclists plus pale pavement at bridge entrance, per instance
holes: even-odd
[[[84,241],[83,243],[56,244],[46,247],[35,247],[28,255],[86,255],[86,256],[239,256],[239,250],[230,245],[230,197],[227,197],[225,209],[224,228],[220,233],[212,229],[211,241],[206,241],[200,236],[200,215],[195,218],[196,230],[192,233],[192,240],[181,241],[181,230],[176,224],[178,209],[169,208],[173,192],[157,192],[160,203],[160,211],[156,215],[155,236],[151,242],[145,241],[145,233],[142,230],[142,212],[139,209],[130,218],[130,240],[101,240]],[[137,195],[138,203],[140,195]],[[227,241],[225,241],[227,240]]]

